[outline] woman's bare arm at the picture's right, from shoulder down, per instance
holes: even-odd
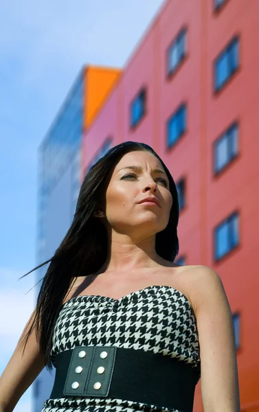
[[[221,278],[212,268],[197,266],[194,279],[204,412],[240,412],[234,325]]]

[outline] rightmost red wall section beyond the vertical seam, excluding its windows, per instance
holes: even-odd
[[[212,228],[237,209],[240,244],[214,264],[233,312],[240,312],[237,352],[241,407],[259,411],[259,198],[258,198],[258,1],[229,0],[220,14],[206,10],[204,142],[207,262],[213,264]],[[240,36],[240,69],[217,95],[212,93],[211,62],[230,38]],[[218,178],[212,176],[212,143],[234,120],[240,122],[239,155]]]

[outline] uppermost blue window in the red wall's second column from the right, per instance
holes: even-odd
[[[168,47],[167,52],[167,73],[170,76],[180,65],[186,55],[186,29],[182,29],[177,38]]]

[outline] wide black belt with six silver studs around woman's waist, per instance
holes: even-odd
[[[162,354],[116,346],[78,346],[54,358],[50,398],[119,398],[191,412],[199,371]]]

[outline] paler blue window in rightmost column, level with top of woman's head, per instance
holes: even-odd
[[[214,172],[221,172],[238,155],[238,124],[235,122],[214,144]]]

